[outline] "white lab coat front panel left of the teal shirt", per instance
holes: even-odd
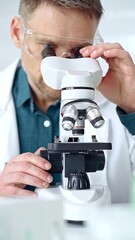
[[[19,153],[16,114],[11,94],[17,63],[18,61],[0,73],[0,171],[6,162]]]

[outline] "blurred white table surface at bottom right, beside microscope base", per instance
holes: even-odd
[[[83,226],[65,224],[64,240],[135,240],[135,206],[95,209]]]

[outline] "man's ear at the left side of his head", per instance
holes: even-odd
[[[22,34],[21,34],[21,23],[20,18],[14,17],[10,25],[10,33],[12,40],[17,48],[22,47]]]

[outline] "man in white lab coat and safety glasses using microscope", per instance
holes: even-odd
[[[11,22],[11,36],[21,49],[21,61],[0,76],[1,195],[35,196],[36,192],[27,186],[47,188],[53,181],[46,171],[51,168],[50,163],[38,156],[59,134],[60,91],[49,88],[40,72],[45,47],[63,57],[74,58],[81,53],[83,57],[104,58],[109,70],[99,90],[115,103],[119,103],[119,82],[133,80],[134,64],[119,44],[91,46],[102,13],[99,0],[20,1],[20,17]],[[112,202],[127,202],[135,141],[120,123],[115,104],[98,91],[95,101],[105,125],[93,130],[87,124],[85,139],[89,141],[94,133],[99,141],[112,142],[113,149],[106,153],[104,171],[91,174],[91,183],[107,184]],[[55,182],[60,180],[59,176],[53,177]]]

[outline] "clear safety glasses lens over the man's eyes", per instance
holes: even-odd
[[[68,39],[34,33],[26,30],[23,48],[33,57],[42,60],[47,56],[61,56],[65,58],[80,58],[80,49],[93,45],[92,40]]]

